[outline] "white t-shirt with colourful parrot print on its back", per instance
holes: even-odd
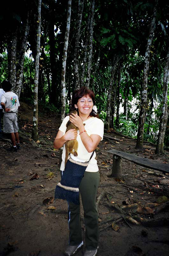
[[[1,102],[5,103],[5,108],[10,108],[10,111],[16,112],[20,106],[18,96],[14,92],[6,92],[1,96]],[[3,109],[5,113],[5,110]]]

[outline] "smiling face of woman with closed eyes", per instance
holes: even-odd
[[[93,100],[89,95],[83,96],[77,102],[77,105],[74,105],[75,108],[78,108],[79,114],[89,116],[93,109]]]

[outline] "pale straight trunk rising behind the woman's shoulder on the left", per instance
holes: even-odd
[[[71,4],[72,0],[68,0],[67,5],[67,26],[65,32],[65,42],[64,42],[64,50],[63,50],[63,61],[62,61],[62,73],[61,73],[61,88],[62,88],[62,108],[61,108],[61,123],[65,118],[65,107],[66,107],[66,85],[65,85],[65,73],[66,73],[66,59],[67,59],[67,48],[68,48],[68,40],[69,40],[69,31],[70,31],[70,16],[71,16]]]

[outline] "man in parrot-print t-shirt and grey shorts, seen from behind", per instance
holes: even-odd
[[[2,88],[5,93],[1,96],[1,106],[4,113],[4,129],[3,132],[11,134],[11,148],[8,151],[17,152],[20,149],[18,123],[17,123],[17,110],[20,106],[18,96],[11,92],[12,85],[8,81],[2,82]]]

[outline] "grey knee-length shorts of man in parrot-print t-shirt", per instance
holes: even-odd
[[[16,113],[4,113],[3,132],[5,133],[18,132],[18,123],[17,123]]]

